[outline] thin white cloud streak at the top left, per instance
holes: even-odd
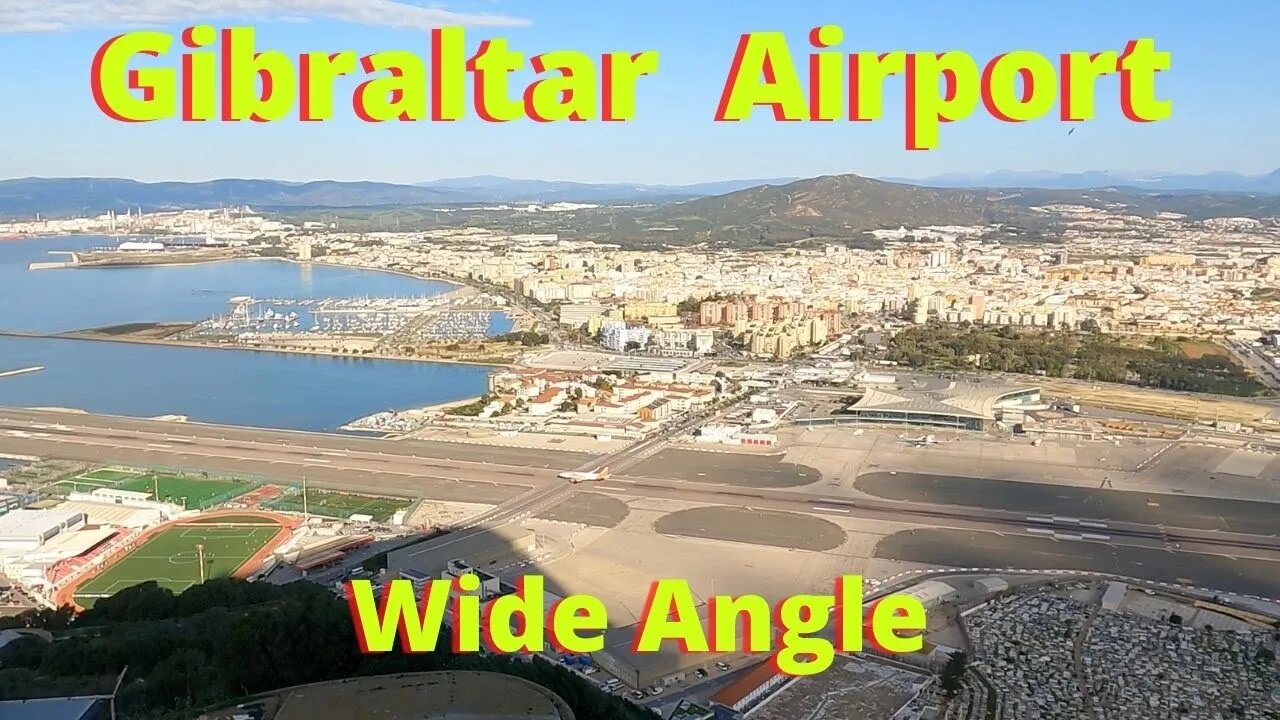
[[[298,19],[396,28],[530,24],[522,18],[454,13],[416,0],[0,0],[0,33]]]

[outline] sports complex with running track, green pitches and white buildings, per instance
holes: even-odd
[[[415,507],[265,478],[82,466],[0,514],[0,570],[37,597],[87,609],[146,582],[180,593],[279,562],[303,573],[340,562]]]

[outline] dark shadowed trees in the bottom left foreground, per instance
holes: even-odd
[[[214,585],[209,588],[209,585]],[[543,685],[577,717],[641,720],[652,715],[556,664],[435,652],[364,655],[347,603],[307,582],[288,585],[210,580],[165,601],[157,588],[104,598],[52,643],[5,648],[0,697],[101,694],[129,667],[116,697],[120,717],[192,717],[196,707],[237,702],[282,687],[364,675],[481,670]],[[196,593],[192,597],[188,594]],[[169,598],[174,596],[168,594]],[[113,602],[115,601],[115,602]]]

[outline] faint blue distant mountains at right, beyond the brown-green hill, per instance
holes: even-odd
[[[996,170],[993,173],[948,173],[922,179],[886,179],[929,187],[1029,187],[1043,190],[1123,187],[1161,192],[1253,192],[1280,195],[1280,169],[1265,176],[1242,176],[1228,172],[1167,174],[1107,170],[1087,170],[1083,173]]]

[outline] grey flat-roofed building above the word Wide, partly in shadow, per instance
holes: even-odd
[[[474,568],[497,569],[526,559],[538,547],[529,528],[500,527],[480,533],[451,533],[392,551],[387,569],[413,578],[439,578],[449,564],[462,560]]]

